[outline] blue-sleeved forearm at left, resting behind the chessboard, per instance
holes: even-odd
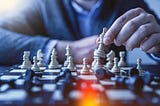
[[[31,37],[0,28],[0,65],[13,65],[22,62],[23,51],[31,51],[31,57],[38,49],[43,49],[49,38]]]

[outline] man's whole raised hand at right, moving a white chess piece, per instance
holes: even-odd
[[[140,48],[148,53],[160,50],[160,26],[155,17],[142,8],[131,9],[120,16],[104,36],[104,44]]]

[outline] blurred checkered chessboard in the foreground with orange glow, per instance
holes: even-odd
[[[81,65],[71,72],[77,80],[58,81],[61,68],[42,67],[28,89],[25,85],[27,69],[14,67],[0,74],[0,105],[55,105],[55,106],[158,106],[160,82],[144,84],[136,93],[129,88],[117,87],[111,79],[99,80],[95,73],[81,75]],[[32,81],[31,81],[32,80]],[[38,84],[37,84],[38,82]],[[67,85],[65,85],[67,83]],[[64,86],[65,85],[65,86]]]

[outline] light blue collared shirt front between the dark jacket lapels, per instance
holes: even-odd
[[[103,0],[98,0],[97,3],[92,7],[90,11],[85,10],[80,5],[78,5],[75,0],[72,0],[73,9],[78,16],[78,25],[80,33],[83,37],[91,36],[91,20],[96,18],[101,10],[101,5]]]

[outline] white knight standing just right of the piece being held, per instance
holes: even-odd
[[[113,60],[114,60],[114,57],[115,57],[115,52],[113,50],[111,50],[107,55],[107,63],[106,63],[106,68],[108,70],[111,70],[114,66],[114,63],[113,63]]]

